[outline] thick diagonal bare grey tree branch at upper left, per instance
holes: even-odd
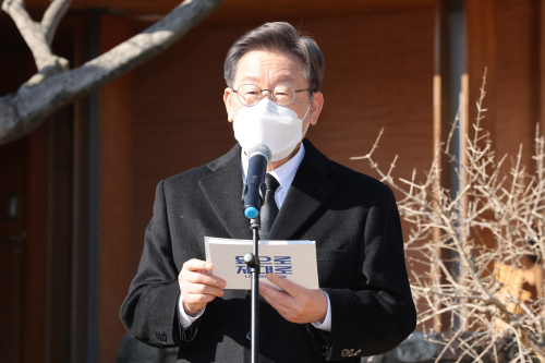
[[[58,109],[164,52],[221,1],[184,1],[141,34],[82,66],[0,97],[0,145],[28,134]]]

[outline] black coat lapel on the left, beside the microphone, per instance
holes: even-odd
[[[237,144],[228,154],[208,164],[213,173],[199,180],[208,203],[221,226],[232,239],[252,239],[250,220],[244,216],[241,202],[241,147]]]

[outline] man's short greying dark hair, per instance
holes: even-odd
[[[303,76],[313,92],[318,92],[324,78],[324,56],[316,41],[300,33],[289,23],[265,23],[237,40],[226,57],[223,77],[229,87],[233,86],[239,60],[253,50],[284,51],[301,59]]]

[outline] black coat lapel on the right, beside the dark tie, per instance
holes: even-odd
[[[291,239],[337,189],[326,178],[334,171],[329,159],[307,140],[303,143],[305,156],[272,225],[270,240]]]

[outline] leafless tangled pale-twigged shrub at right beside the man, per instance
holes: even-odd
[[[533,171],[521,165],[521,145],[505,176],[506,157],[497,160],[480,128],[484,84],[473,135],[464,135],[467,162],[449,150],[455,128],[422,182],[415,170],[412,180],[395,179],[397,157],[387,172],[378,167],[373,155],[383,131],[367,155],[352,159],[368,160],[403,196],[407,258],[419,266],[410,270],[411,288],[419,324],[437,343],[436,361],[545,362],[545,141],[537,128]],[[440,185],[441,154],[455,162],[457,195]]]

